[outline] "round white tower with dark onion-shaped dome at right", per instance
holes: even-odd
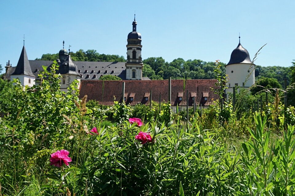
[[[226,75],[229,78],[226,94],[233,93],[233,87],[249,88],[254,85],[255,65],[252,64],[249,52],[242,46],[240,40],[225,67]]]

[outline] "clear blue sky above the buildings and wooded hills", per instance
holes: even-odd
[[[0,1],[0,64],[17,65],[23,46],[28,58],[94,49],[126,58],[127,35],[136,12],[142,58],[201,59],[228,63],[241,44],[261,66],[291,66],[295,59],[295,1]]]

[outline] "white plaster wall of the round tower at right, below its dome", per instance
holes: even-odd
[[[255,83],[255,70],[254,65],[248,63],[239,63],[239,64],[231,64],[226,66],[226,74],[229,78],[228,81],[228,89],[226,89],[226,94],[228,92],[233,92],[232,87],[238,83],[238,86],[242,87],[243,82],[245,83],[245,88],[249,88]]]

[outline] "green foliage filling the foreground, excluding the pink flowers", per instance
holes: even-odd
[[[277,124],[278,95],[269,115],[238,119],[230,103],[219,112],[216,102],[183,126],[166,103],[150,110],[90,102],[87,109],[74,85],[59,90],[54,69],[33,88],[15,81],[10,115],[0,123],[0,195],[295,194],[294,126]],[[145,124],[128,122],[134,115]],[[140,133],[151,138],[143,143]],[[241,147],[231,142],[238,133],[248,137]],[[69,166],[50,166],[58,150],[69,152]]]

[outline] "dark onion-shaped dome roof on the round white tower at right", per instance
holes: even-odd
[[[239,43],[239,45],[231,53],[230,62],[228,62],[227,65],[238,63],[252,63],[249,52],[242,47],[241,43]]]

